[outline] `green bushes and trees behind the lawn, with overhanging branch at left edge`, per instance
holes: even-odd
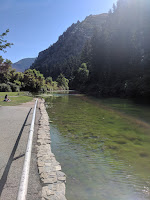
[[[9,29],[0,35],[0,51],[6,52],[5,49],[13,45],[13,43],[4,40],[8,32]],[[57,80],[53,81],[52,77],[45,79],[43,74],[35,69],[25,70],[24,73],[16,72],[15,69],[12,69],[11,64],[10,60],[4,60],[0,56],[0,92],[47,92],[57,89],[69,89],[69,80],[63,74],[60,74]]]

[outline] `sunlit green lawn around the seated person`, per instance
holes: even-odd
[[[10,102],[4,102],[5,95],[8,95]],[[0,92],[0,106],[16,106],[21,103],[32,101],[33,97],[28,92]]]

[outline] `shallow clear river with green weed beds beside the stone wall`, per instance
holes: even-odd
[[[73,93],[46,97],[68,200],[150,199],[150,108]]]

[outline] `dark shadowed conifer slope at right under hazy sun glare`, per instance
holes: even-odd
[[[149,97],[150,1],[119,0],[103,32],[84,49],[81,62],[89,76],[80,89],[98,96]]]

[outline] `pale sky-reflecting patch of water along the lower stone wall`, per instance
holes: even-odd
[[[51,139],[52,151],[67,174],[68,200],[149,199],[142,192],[145,186],[125,171],[123,162],[116,167],[110,157],[85,151],[63,138],[54,126],[51,126]]]

